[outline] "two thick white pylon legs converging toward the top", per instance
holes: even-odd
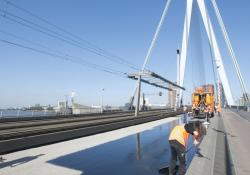
[[[221,53],[218,47],[218,43],[214,34],[213,26],[211,24],[209,14],[207,13],[207,9],[205,6],[204,0],[196,0],[201,12],[201,17],[205,26],[205,30],[208,36],[209,44],[211,50],[213,52],[213,60],[216,63],[217,71],[221,80],[221,83],[224,88],[225,96],[227,99],[228,105],[234,105],[234,99],[232,96],[232,92],[229,86],[229,82],[227,79],[227,75],[224,69]],[[185,77],[185,67],[186,67],[186,59],[187,59],[187,48],[188,48],[188,40],[189,40],[189,31],[190,31],[190,22],[192,16],[193,9],[193,0],[187,0],[186,7],[186,15],[184,20],[184,29],[183,29],[183,38],[182,38],[182,47],[180,53],[180,79],[177,82],[180,86],[183,86],[184,77]],[[179,98],[178,101],[182,99],[183,91],[179,90]]]

